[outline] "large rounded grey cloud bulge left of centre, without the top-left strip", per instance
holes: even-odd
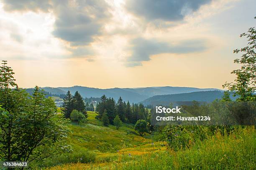
[[[68,3],[68,2],[67,2]],[[74,5],[55,3],[56,22],[53,35],[70,42],[71,46],[88,45],[101,34],[107,5],[99,0],[77,0]]]

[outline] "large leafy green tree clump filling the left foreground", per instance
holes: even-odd
[[[33,95],[18,88],[13,70],[0,67],[0,159],[44,160],[67,150],[67,125],[53,100],[35,87]],[[11,87],[16,87],[15,90]]]

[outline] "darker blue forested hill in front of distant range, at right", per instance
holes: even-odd
[[[223,96],[223,91],[214,90],[214,91],[202,91],[202,92],[189,92],[181,94],[172,94],[172,95],[155,95],[149,97],[146,100],[143,100],[143,105],[169,105],[172,102],[174,105],[188,105],[189,102],[193,100],[199,102],[212,102],[216,99],[221,99]],[[230,95],[232,100],[236,98]]]

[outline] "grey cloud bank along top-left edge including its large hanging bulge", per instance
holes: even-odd
[[[52,11],[55,15],[54,37],[69,42],[73,47],[83,46],[81,50],[72,50],[73,55],[79,53],[92,55],[87,47],[94,37],[101,35],[101,28],[110,16],[108,5],[102,0],[3,0],[7,11]],[[88,50],[85,52],[85,50]]]

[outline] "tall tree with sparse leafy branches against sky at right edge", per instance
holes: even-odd
[[[256,19],[256,17],[254,18]],[[248,45],[241,49],[234,50],[234,53],[244,52],[241,58],[234,60],[235,63],[241,64],[241,68],[233,70],[231,74],[236,75],[235,82],[230,82],[223,85],[223,88],[228,87],[234,96],[239,96],[238,101],[256,100],[256,30],[248,29],[248,33],[243,33],[240,37],[248,38]]]

